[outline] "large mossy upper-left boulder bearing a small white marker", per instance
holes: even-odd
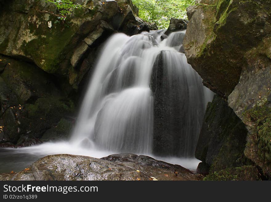
[[[140,32],[144,22],[129,0],[75,3],[83,7],[71,8],[64,21],[56,6],[47,1],[4,0],[0,12],[0,53],[34,62],[47,73],[66,78],[76,89],[91,68],[86,68],[83,61],[93,55],[93,50],[97,54],[97,46],[117,31]]]

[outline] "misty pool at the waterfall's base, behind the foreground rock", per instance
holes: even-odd
[[[95,158],[102,158],[114,153],[114,151],[104,151],[97,148],[84,149],[76,147],[68,142],[58,143],[44,143],[41,145],[34,145],[23,148],[0,148],[0,173],[2,172],[19,172],[24,168],[29,167],[33,162],[47,155],[53,154],[73,154],[82,156],[91,156]],[[197,165],[201,162],[196,158],[178,158],[178,157],[161,157],[152,154],[138,154],[146,155],[162,160],[171,164],[178,164],[191,171],[195,171]]]

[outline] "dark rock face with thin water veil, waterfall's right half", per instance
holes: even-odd
[[[153,148],[158,155],[194,156],[203,120],[201,79],[180,60],[181,55],[162,51],[153,67]]]

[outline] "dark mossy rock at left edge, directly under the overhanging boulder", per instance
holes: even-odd
[[[6,63],[1,73],[6,86],[18,97],[18,104],[35,101],[38,97],[55,97],[60,99],[66,95],[55,85],[54,76],[42,71],[37,66],[0,56]]]

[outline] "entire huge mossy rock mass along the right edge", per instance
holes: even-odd
[[[248,128],[245,156],[271,176],[271,1],[201,0],[188,8],[188,62]]]

